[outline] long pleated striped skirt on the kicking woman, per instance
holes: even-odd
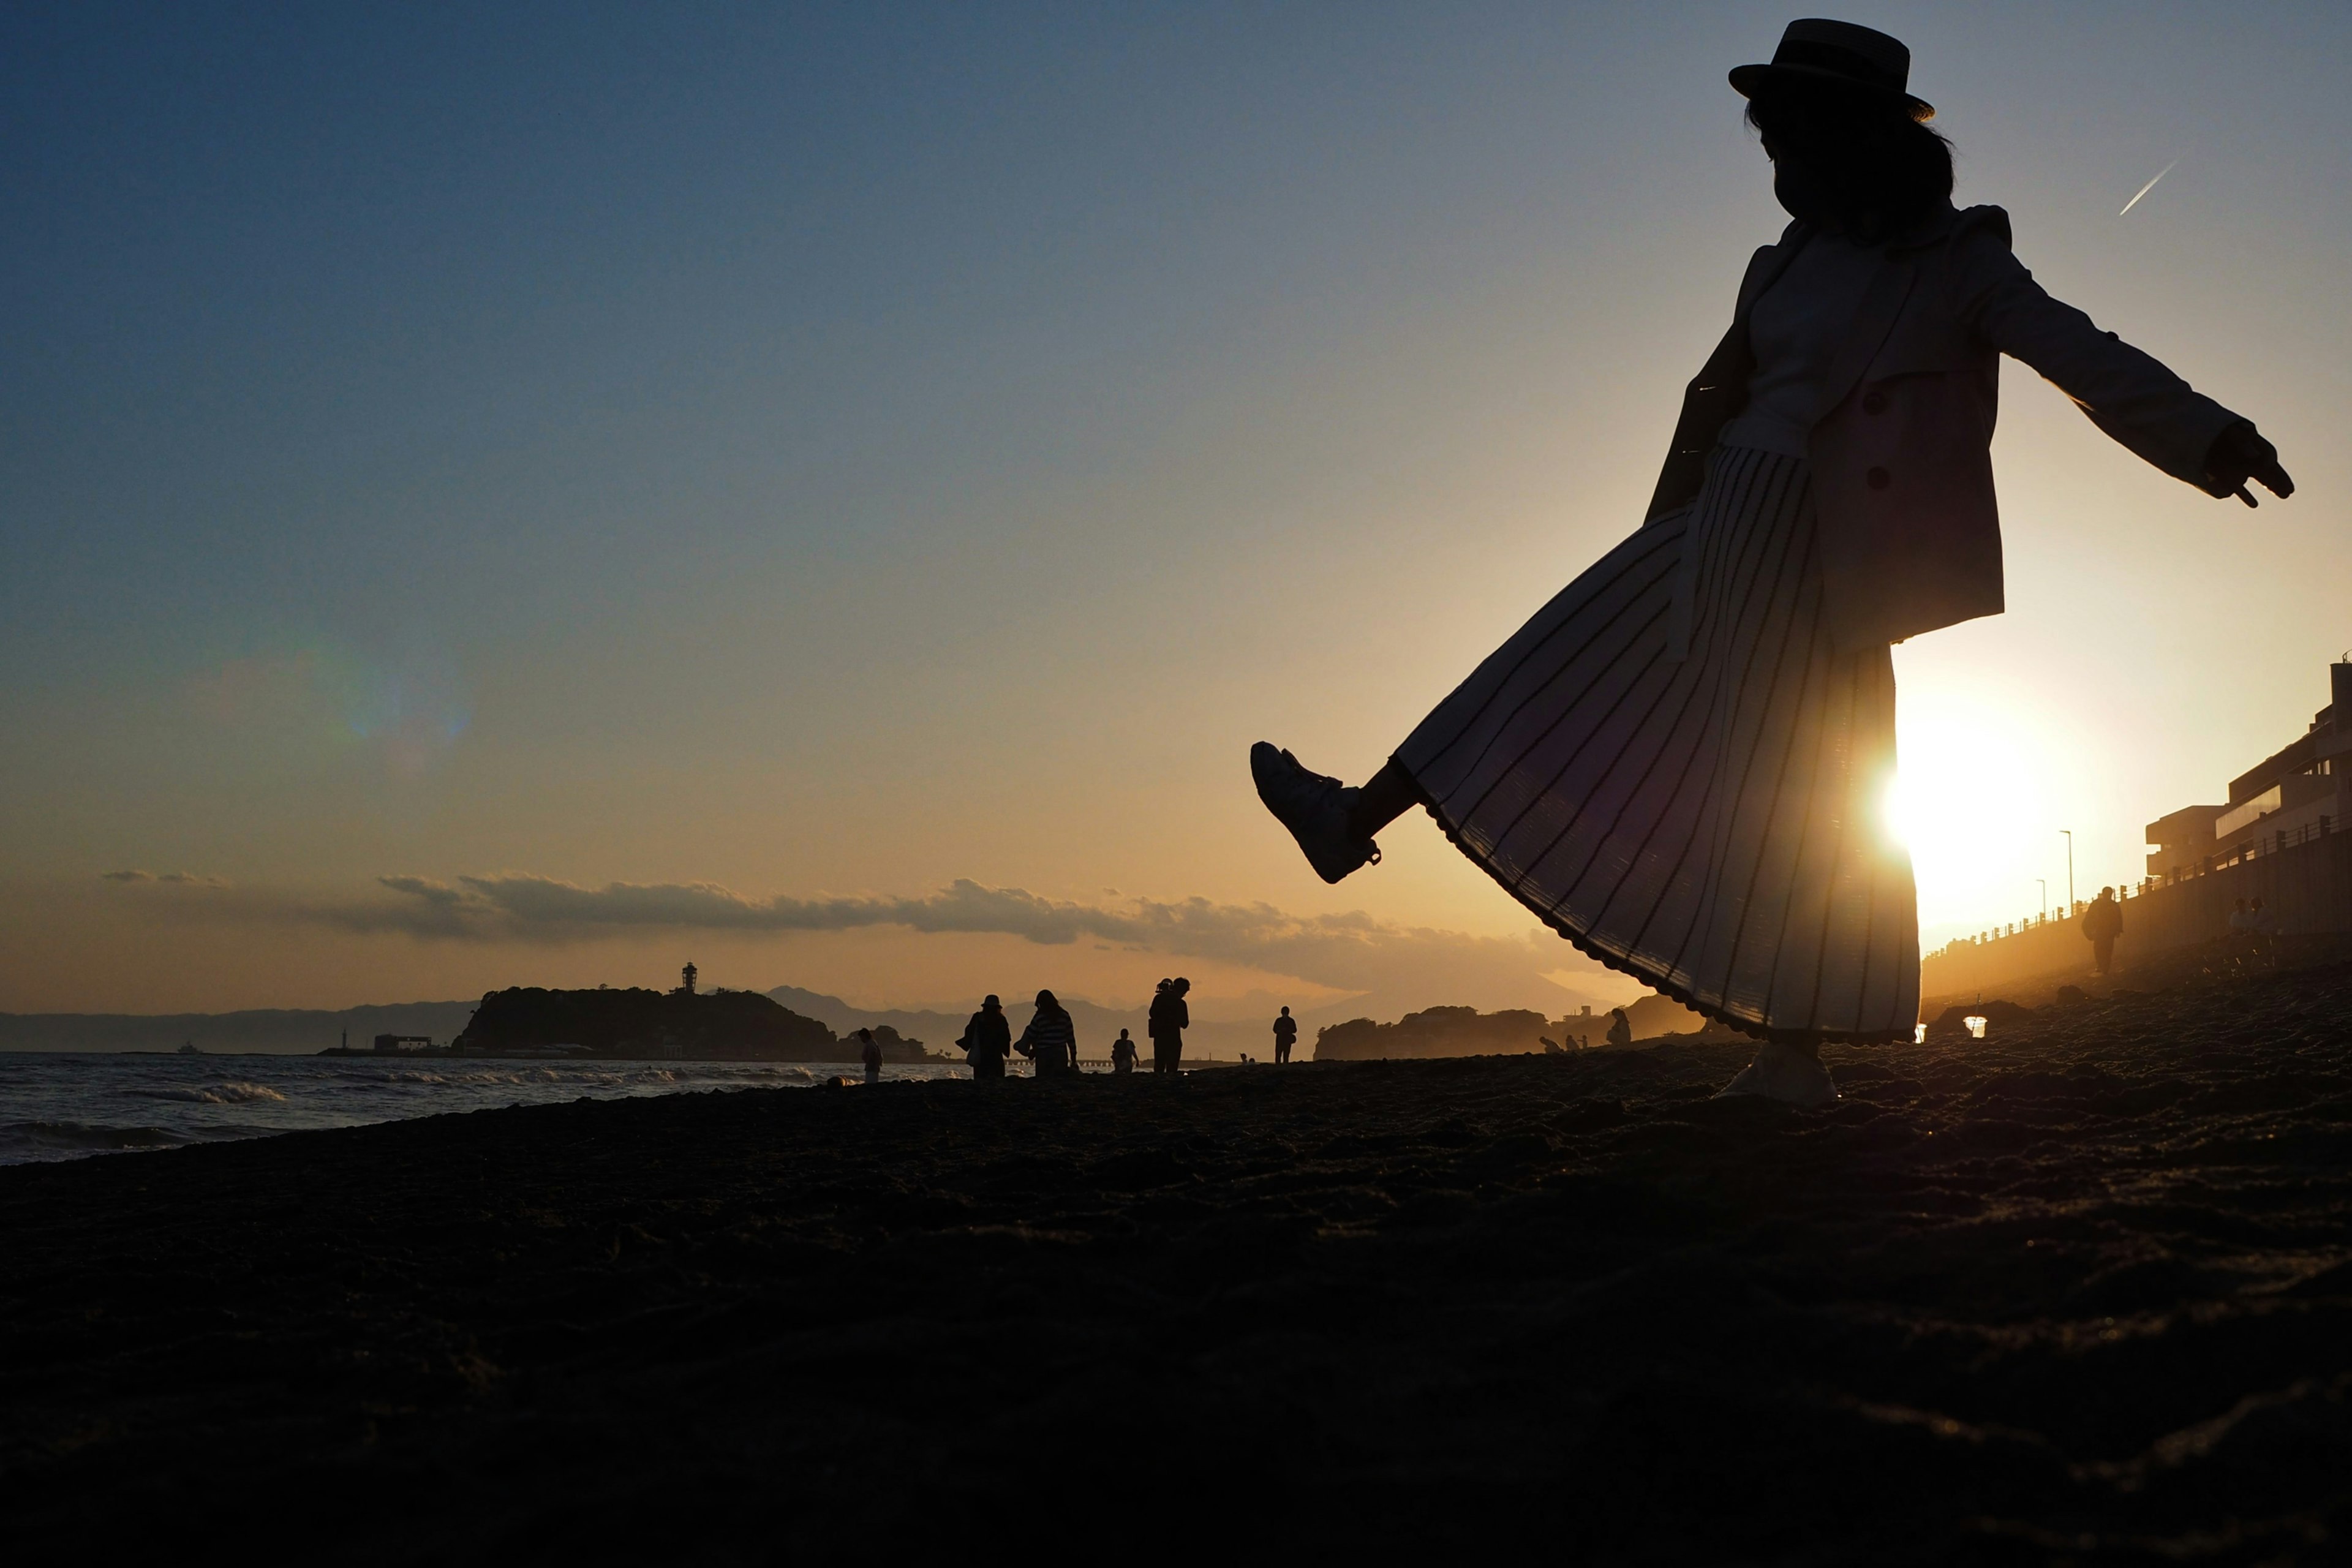
[[[1397,762],[1611,969],[1750,1034],[1910,1039],[1893,661],[1832,651],[1804,458],[1717,447],[1698,501],[1569,583]]]

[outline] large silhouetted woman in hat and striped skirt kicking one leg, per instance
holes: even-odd
[[[2044,294],[2009,214],[1952,207],[1907,78],[1900,42],[1839,21],[1731,73],[1795,221],[1748,263],[1642,529],[1367,785],[1249,757],[1327,882],[1428,806],[1564,938],[1762,1037],[1726,1093],[1809,1105],[1837,1093],[1820,1041],[1919,1013],[1886,649],[2002,609],[1999,357],[2211,496],[2293,494],[2253,423]]]

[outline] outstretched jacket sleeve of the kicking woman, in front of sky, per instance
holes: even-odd
[[[2206,454],[2239,416],[2112,331],[2051,299],[2009,249],[2009,214],[1971,209],[1952,237],[1959,320],[1983,341],[2042,371],[2093,425],[2209,496]]]

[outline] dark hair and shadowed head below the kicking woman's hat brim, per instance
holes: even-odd
[[[1952,200],[1952,143],[1900,99],[1830,87],[1783,87],[1748,99],[1748,125],[1773,158],[1795,158],[1856,240],[1893,237]]]

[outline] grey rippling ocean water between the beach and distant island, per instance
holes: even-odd
[[[807,1088],[854,1063],[541,1063],[374,1056],[0,1051],[0,1166],[268,1138],[407,1117],[626,1100],[713,1088]],[[889,1065],[884,1079],[967,1077]]]

